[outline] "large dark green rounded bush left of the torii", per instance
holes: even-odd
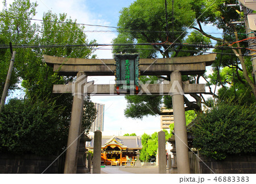
[[[52,155],[67,143],[54,102],[12,99],[0,114],[0,152]]]

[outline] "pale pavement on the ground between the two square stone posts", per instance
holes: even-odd
[[[101,168],[101,174],[159,174],[158,166],[125,167],[125,166],[105,166]]]

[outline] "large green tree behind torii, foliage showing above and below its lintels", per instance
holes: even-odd
[[[188,37],[187,29],[193,25],[195,11],[192,10],[193,1],[167,1],[167,14],[164,1],[138,0],[121,11],[119,17],[118,36],[113,40],[114,44],[126,44],[125,46],[113,46],[113,53],[139,53],[141,58],[177,57],[186,55],[198,55],[208,50],[201,46],[191,48],[188,46],[175,45],[170,42],[203,42],[210,44],[210,39],[200,32],[194,31]],[[172,11],[173,9],[173,11]],[[167,15],[167,19],[166,19]],[[166,22],[167,20],[167,22]],[[167,32],[168,30],[168,32]],[[169,34],[170,33],[170,34]],[[136,45],[136,44],[144,45]],[[170,76],[141,76],[145,83],[151,80],[152,83],[162,80],[170,80]],[[183,80],[190,83],[197,83],[196,76],[183,76]],[[185,97],[186,110],[200,110],[201,97],[192,95],[196,102],[191,102]],[[166,96],[126,96],[127,108],[126,117],[143,118],[147,115],[162,115],[160,112],[162,101],[168,108],[172,108],[171,97]]]

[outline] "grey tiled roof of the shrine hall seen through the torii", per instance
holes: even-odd
[[[89,138],[92,140],[90,142],[86,142],[86,148],[93,148],[94,136],[90,135]],[[142,148],[140,136],[102,136],[101,147],[104,147],[106,144],[109,144],[110,142],[112,142],[113,139],[117,140],[117,142],[119,144],[122,144],[123,147],[127,147],[130,149]]]

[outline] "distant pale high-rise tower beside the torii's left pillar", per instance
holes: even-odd
[[[95,121],[92,123],[92,126],[90,126],[90,131],[94,132],[96,130],[103,131],[103,125],[104,125],[104,104],[97,104],[94,103],[95,108],[97,110],[97,115]]]

